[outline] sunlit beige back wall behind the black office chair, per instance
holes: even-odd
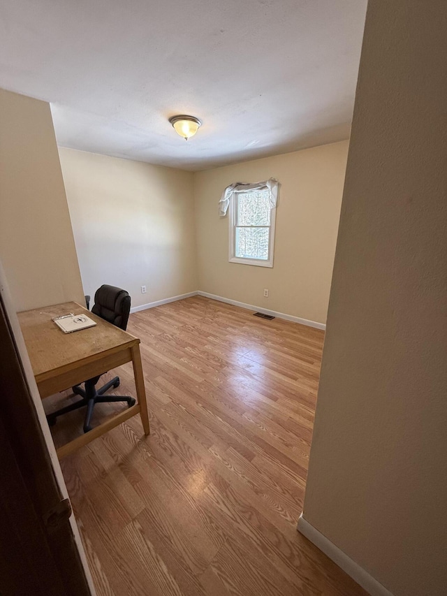
[[[192,173],[59,152],[85,293],[116,285],[135,307],[196,291]]]

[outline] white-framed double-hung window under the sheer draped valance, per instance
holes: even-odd
[[[233,193],[230,200],[230,262],[273,267],[275,208],[270,190]]]

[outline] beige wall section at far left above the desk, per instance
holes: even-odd
[[[3,89],[0,259],[17,311],[83,299],[50,106]]]

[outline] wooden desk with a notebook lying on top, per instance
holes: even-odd
[[[96,321],[96,326],[75,333],[64,333],[52,318],[71,312],[88,314]],[[135,414],[140,414],[145,434],[149,435],[149,416],[138,337],[133,337],[130,333],[104,321],[75,302],[26,310],[19,312],[17,317],[42,399],[126,362],[133,364],[138,403],[57,449],[59,459],[80,449]]]

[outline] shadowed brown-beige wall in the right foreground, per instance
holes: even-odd
[[[304,517],[447,591],[447,3],[369,0]]]

